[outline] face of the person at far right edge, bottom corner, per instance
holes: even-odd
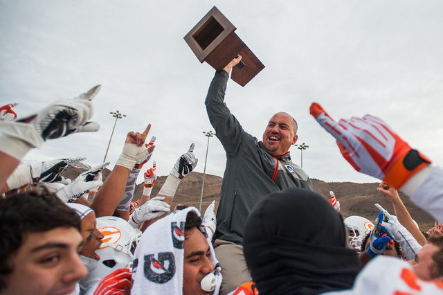
[[[439,250],[439,247],[434,244],[425,244],[422,249],[420,249],[417,254],[415,254],[414,260],[410,260],[409,263],[413,267],[415,275],[422,280],[433,280],[435,276],[433,275],[433,268],[435,267],[435,262],[432,256],[435,252]],[[442,278],[440,278],[441,280]]]

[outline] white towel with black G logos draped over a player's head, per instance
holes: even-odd
[[[143,233],[134,254],[132,295],[183,294],[183,242],[186,216],[190,211],[200,216],[195,207],[174,211],[154,222]],[[217,280],[213,294],[217,295],[221,285],[221,267],[204,226],[200,226],[200,231],[204,233],[210,247],[210,261]]]

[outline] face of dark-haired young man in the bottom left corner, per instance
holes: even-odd
[[[3,294],[71,294],[87,275],[78,251],[82,237],[73,227],[28,233],[12,256],[12,274]]]

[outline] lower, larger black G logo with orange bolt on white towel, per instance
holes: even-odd
[[[154,254],[145,255],[143,271],[145,272],[145,278],[151,282],[167,283],[175,274],[174,254],[172,252],[161,252],[157,259],[154,258]]]

